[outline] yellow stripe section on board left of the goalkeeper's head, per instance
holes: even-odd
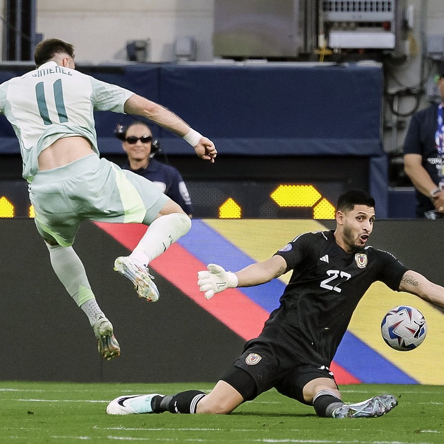
[[[270,259],[301,233],[327,230],[324,225],[313,220],[203,219],[203,222],[256,262]],[[291,273],[287,273],[279,279],[288,284],[290,277]]]

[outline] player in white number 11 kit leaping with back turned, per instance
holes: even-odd
[[[75,71],[72,44],[49,38],[37,45],[34,56],[35,71],[0,85],[0,112],[19,140],[23,177],[52,267],[88,316],[100,354],[110,360],[119,356],[119,344],[72,247],[80,222],[149,225],[134,251],[115,259],[114,270],[133,282],[140,297],[153,302],[159,293],[147,265],[183,236],[191,222],[156,185],[99,158],[93,111],[144,116],[183,137],[200,158],[212,163],[217,151],[213,142],[166,108]]]

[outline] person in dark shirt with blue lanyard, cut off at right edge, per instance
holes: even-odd
[[[404,141],[404,170],[416,188],[418,218],[427,211],[444,214],[444,190],[440,189],[440,182],[444,182],[440,153],[444,149],[444,73],[439,77],[438,89],[442,102],[413,115]]]

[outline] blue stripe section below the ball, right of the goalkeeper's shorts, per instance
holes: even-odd
[[[362,382],[372,384],[417,384],[418,381],[382,357],[347,330],[334,355],[334,362]]]

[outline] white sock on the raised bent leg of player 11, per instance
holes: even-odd
[[[161,255],[191,228],[191,220],[183,213],[166,214],[149,225],[137,247],[130,254],[144,265]]]

